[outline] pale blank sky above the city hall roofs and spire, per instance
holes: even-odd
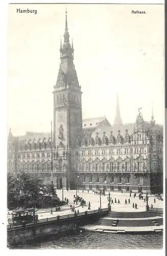
[[[18,8],[37,14],[17,13]],[[163,124],[163,5],[66,8],[83,118],[105,115],[112,124],[118,92],[123,123],[135,122],[137,108],[150,121],[153,102],[156,123]],[[64,28],[64,4],[9,5],[8,130],[15,136],[50,132]]]

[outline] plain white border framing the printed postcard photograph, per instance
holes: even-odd
[[[33,3],[32,3],[33,2]],[[9,3],[20,3],[20,4],[26,4],[26,3],[31,3],[31,4],[45,4],[45,3],[63,3],[64,1],[20,1],[16,0],[13,1],[11,0],[10,2],[8,1],[2,1],[1,2],[1,15],[0,15],[0,27],[1,27],[1,58],[0,58],[0,77],[1,77],[1,99],[0,99],[0,110],[1,110],[1,125],[0,125],[0,134],[1,134],[1,213],[0,213],[0,218],[1,218],[1,239],[0,239],[0,244],[1,244],[1,251],[2,253],[7,253],[7,254],[12,254],[12,255],[19,255],[19,254],[36,254],[40,253],[40,255],[44,255],[45,253],[61,253],[61,254],[68,254],[68,255],[74,255],[75,254],[80,254],[84,255],[85,254],[94,254],[94,255],[102,255],[103,253],[110,254],[114,253],[115,255],[121,255],[124,254],[126,255],[135,255],[135,256],[141,256],[142,255],[156,255],[158,253],[158,256],[163,255],[164,252],[164,246],[165,246],[165,232],[164,232],[164,237],[163,237],[163,250],[61,250],[61,251],[55,251],[55,250],[8,250],[6,249],[6,163],[7,163],[7,12],[8,12],[8,4]],[[135,3],[134,3],[135,2]],[[65,3],[89,3],[89,4],[164,4],[164,1],[162,0],[121,0],[121,1],[70,1],[66,0]],[[17,61],[17,60],[16,60]],[[164,111],[164,120],[165,120],[165,111]],[[165,122],[164,122],[164,141],[165,141]],[[164,170],[165,170],[165,148],[164,148]],[[165,185],[165,171],[164,171],[164,183]],[[165,187],[165,186],[164,186]],[[164,188],[164,195],[165,195],[165,188]],[[164,196],[165,198],[165,196]],[[164,201],[165,202],[165,201]],[[5,209],[5,210],[4,210]],[[164,207],[164,213],[165,213],[165,207]],[[4,223],[4,224],[2,224]],[[164,218],[164,227],[165,227],[165,218]],[[108,241],[109,243],[112,243],[112,241]],[[149,245],[150,246],[150,245]],[[116,247],[116,245],[115,245]]]

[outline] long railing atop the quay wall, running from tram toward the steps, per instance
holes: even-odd
[[[104,208],[104,209],[101,209],[101,212],[107,212],[108,211],[108,208]],[[70,219],[70,218],[76,218],[76,217],[79,217],[79,216],[85,216],[85,215],[93,215],[93,214],[98,214],[100,212],[100,210],[90,210],[90,211],[84,211],[84,212],[80,212],[79,214],[77,214],[75,216],[75,214],[68,214],[68,215],[63,215],[63,216],[56,216],[56,217],[53,217],[53,218],[46,218],[46,219],[42,219],[42,220],[38,220],[35,222],[35,224],[40,224],[40,223],[48,223],[48,222],[52,222],[52,221],[58,221],[58,220],[63,220],[63,219]],[[33,226],[34,225],[34,222],[31,222],[31,223],[26,223],[25,224],[25,227],[27,226]],[[7,229],[12,229],[12,228],[22,228],[24,227],[23,225],[15,225],[15,224],[10,224],[10,225],[7,225]]]

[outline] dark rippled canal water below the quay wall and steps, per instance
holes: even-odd
[[[83,232],[64,237],[50,237],[31,244],[12,246],[11,249],[162,249],[163,235],[108,234]]]

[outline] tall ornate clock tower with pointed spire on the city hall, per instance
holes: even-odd
[[[74,65],[73,41],[70,45],[65,12],[64,42],[60,44],[60,67],[54,86],[54,141],[57,156],[73,156],[77,135],[82,130],[81,86]],[[62,152],[61,152],[62,151]],[[73,172],[72,159],[67,173]]]

